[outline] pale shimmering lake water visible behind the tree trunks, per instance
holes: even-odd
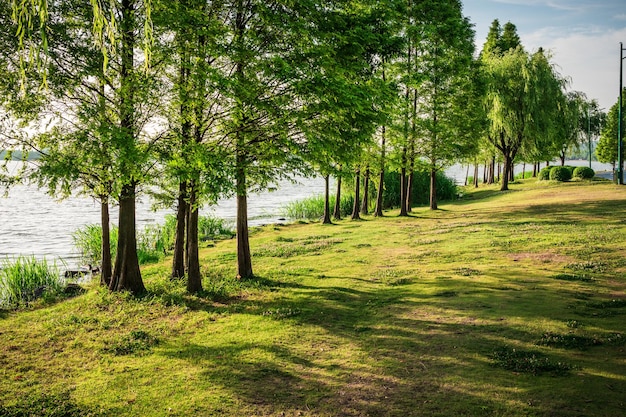
[[[586,161],[569,161],[570,165],[586,165]],[[528,167],[527,167],[528,168]],[[610,170],[610,165],[593,163],[593,168]],[[532,169],[532,168],[531,168]],[[482,175],[482,168],[480,169]],[[516,168],[521,172],[521,166]],[[447,174],[458,183],[465,180],[466,168],[455,165]],[[473,168],[470,168],[470,175]],[[248,213],[251,225],[278,222],[281,209],[289,202],[324,192],[323,179],[302,179],[296,184],[281,182],[273,192],[250,195]],[[146,197],[137,204],[137,227],[162,222],[174,210],[152,211]],[[236,215],[234,199],[222,200],[217,206],[201,210],[232,221]],[[17,255],[46,257],[49,261],[61,259],[68,266],[78,265],[79,259],[72,243],[72,233],[86,224],[100,222],[100,205],[85,197],[55,201],[43,191],[30,186],[17,186],[8,198],[0,197],[0,259]],[[117,224],[117,207],[111,208],[111,223]]]

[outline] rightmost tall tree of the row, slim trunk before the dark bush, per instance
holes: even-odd
[[[475,138],[480,137],[484,120],[482,85],[473,59],[474,32],[462,16],[460,2],[421,6],[423,37],[415,44],[414,69],[421,77],[413,86],[410,132],[411,143],[430,172],[430,208],[435,210],[437,172],[477,147]]]

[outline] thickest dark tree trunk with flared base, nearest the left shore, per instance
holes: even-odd
[[[120,193],[120,212],[115,269],[109,288],[127,290],[133,294],[146,291],[141,279],[137,258],[137,231],[135,225],[135,186],[126,184]]]

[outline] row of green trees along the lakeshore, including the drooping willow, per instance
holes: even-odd
[[[515,161],[564,155],[589,131],[585,114],[593,132],[602,118],[594,101],[567,91],[548,53],[524,50],[513,24],[494,21],[477,55],[456,0],[30,0],[0,8],[10,29],[0,39],[1,104],[20,123],[5,130],[4,147],[38,150],[41,159],[20,174],[51,194],[79,191],[101,202],[102,279],[112,290],[144,291],[140,191],[176,207],[172,277],[198,292],[203,204],[236,196],[238,275],[248,278],[251,190],[318,173],[328,196],[329,176],[350,172],[357,218],[368,208],[363,172],[364,199],[379,178],[374,213],[382,216],[383,178],[393,169],[406,215],[413,173],[426,170],[436,209],[436,174],[446,166],[501,160],[506,190]]]

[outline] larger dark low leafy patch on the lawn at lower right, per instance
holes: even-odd
[[[550,373],[553,375],[567,375],[573,369],[572,365],[555,362],[538,352],[518,350],[508,346],[501,347],[493,352],[491,359],[494,365],[513,372],[531,373],[539,375]]]

